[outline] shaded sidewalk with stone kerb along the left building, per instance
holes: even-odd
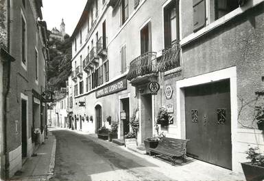
[[[37,156],[32,156],[23,165],[21,171],[16,173],[16,176],[11,180],[49,180],[53,176],[56,153],[56,138],[48,133],[48,139],[45,139],[45,144],[40,145],[34,152]]]

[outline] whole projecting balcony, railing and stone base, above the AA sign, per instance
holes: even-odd
[[[147,52],[130,62],[130,70],[127,79],[132,85],[150,81],[158,72],[156,52]]]

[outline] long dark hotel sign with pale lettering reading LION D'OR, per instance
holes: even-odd
[[[99,88],[95,92],[96,98],[101,98],[103,96],[107,96],[109,94],[113,94],[115,92],[119,92],[121,90],[127,89],[127,80],[126,77],[123,77],[122,79],[119,79],[117,81],[114,81],[104,87]]]

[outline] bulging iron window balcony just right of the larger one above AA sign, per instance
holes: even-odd
[[[165,72],[173,68],[180,68],[180,44],[173,44],[170,48],[163,50],[163,56],[158,63],[158,70]]]

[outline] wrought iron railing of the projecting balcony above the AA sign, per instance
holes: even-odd
[[[131,81],[138,76],[158,72],[156,62],[156,52],[147,52],[139,57],[136,57],[136,59],[130,62],[127,79]]]

